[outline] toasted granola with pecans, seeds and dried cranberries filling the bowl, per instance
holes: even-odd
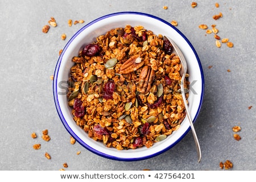
[[[162,35],[143,26],[115,28],[72,61],[68,105],[90,138],[117,150],[149,148],[179,129],[180,59]]]

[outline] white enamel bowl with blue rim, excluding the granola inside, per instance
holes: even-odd
[[[102,142],[96,142],[89,138],[88,134],[76,125],[76,122],[73,121],[71,107],[68,106],[66,96],[69,70],[73,65],[71,61],[72,57],[77,56],[83,46],[94,42],[97,36],[104,35],[113,28],[125,27],[127,24],[133,27],[141,25],[147,30],[153,31],[156,35],[162,34],[170,37],[184,53],[188,64],[189,81],[191,82],[188,98],[189,111],[193,122],[195,122],[200,112],[204,96],[204,75],[199,57],[192,44],[189,43],[189,40],[177,28],[165,20],[150,14],[137,12],[109,14],[93,20],[76,32],[64,47],[57,61],[53,80],[53,97],[57,113],[65,129],[82,146],[94,154],[108,159],[134,161],[152,158],[175,146],[191,129],[188,118],[186,117],[184,119],[179,130],[174,131],[162,142],[155,143],[151,148],[142,147],[135,150],[118,151],[115,148],[104,146]]]

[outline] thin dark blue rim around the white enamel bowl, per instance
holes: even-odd
[[[166,20],[162,19],[162,18],[159,18],[157,16],[154,16],[154,15],[151,15],[151,14],[146,14],[146,13],[139,13],[139,12],[135,12],[135,11],[122,11],[122,12],[118,12],[118,13],[112,13],[112,14],[108,14],[108,15],[104,15],[104,16],[101,16],[100,18],[97,18],[95,20],[93,20],[92,22],[86,24],[84,27],[82,27],[79,31],[76,32],[75,35],[72,36],[72,38],[68,41],[68,43],[65,45],[65,47],[63,48],[63,51],[57,61],[57,64],[56,64],[56,67],[55,67],[55,73],[54,73],[54,78],[53,78],[53,98],[54,98],[54,101],[55,101],[55,106],[56,106],[56,110],[57,110],[57,113],[59,114],[59,117],[60,117],[60,120],[61,122],[63,123],[65,129],[68,131],[68,133],[76,139],[77,142],[79,142],[81,144],[81,146],[85,147],[87,150],[93,152],[94,154],[97,154],[99,156],[102,156],[104,158],[108,158],[108,159],[113,159],[113,160],[119,160],[119,161],[137,161],[137,160],[144,160],[144,159],[149,159],[149,158],[153,158],[157,155],[160,155],[162,154],[163,152],[166,152],[167,150],[169,150],[170,148],[174,147],[177,143],[180,142],[181,139],[183,139],[185,137],[185,135],[188,133],[189,130],[191,130],[191,127],[189,127],[187,129],[187,131],[185,131],[185,133],[183,135],[181,135],[181,137],[176,140],[175,143],[171,144],[170,146],[168,146],[167,148],[164,148],[164,150],[162,151],[158,151],[154,154],[151,154],[151,155],[146,155],[146,156],[143,156],[143,157],[140,157],[140,158],[119,158],[119,157],[116,157],[116,156],[112,156],[112,155],[108,155],[108,154],[105,154],[103,152],[100,152],[98,150],[95,150],[94,148],[88,146],[88,144],[84,143],[73,131],[72,129],[68,126],[68,123],[67,121],[65,120],[64,116],[63,116],[63,113],[60,109],[60,105],[59,105],[59,101],[58,101],[58,97],[57,97],[57,75],[59,73],[59,68],[60,68],[60,64],[61,64],[61,60],[62,60],[62,57],[63,57],[63,53],[66,51],[66,49],[68,48],[69,44],[71,44],[72,40],[76,38],[77,35],[79,35],[83,30],[85,30],[86,28],[88,28],[89,26],[91,26],[92,24],[102,20],[102,19],[105,19],[105,18],[109,18],[109,17],[112,17],[112,16],[117,16],[117,15],[125,15],[125,14],[135,14],[135,15],[142,15],[142,16],[149,16],[151,18],[154,18],[154,19],[157,19],[159,20],[160,22],[163,22],[165,24],[167,24],[168,26],[172,27],[176,32],[178,32],[182,37],[183,39],[189,44],[189,46],[191,47],[193,53],[195,54],[196,56],[196,59],[197,59],[197,62],[199,64],[199,68],[200,68],[200,72],[201,72],[201,79],[202,79],[202,85],[201,85],[201,88],[202,88],[202,92],[201,92],[201,97],[200,97],[200,105],[197,109],[197,113],[195,115],[195,118],[193,119],[193,122],[195,123],[198,115],[199,115],[199,112],[200,112],[200,109],[201,109],[201,106],[203,104],[203,98],[204,98],[204,73],[203,73],[203,68],[201,66],[201,62],[200,62],[200,59],[199,59],[199,56],[197,55],[196,53],[196,50],[195,48],[193,48],[192,44],[189,42],[189,40],[185,37],[185,35],[183,35],[182,32],[180,32],[176,27],[172,26],[171,23],[168,23]]]

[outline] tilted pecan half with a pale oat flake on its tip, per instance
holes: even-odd
[[[125,61],[125,63],[122,64],[120,68],[120,73],[128,74],[128,73],[134,72],[137,69],[141,68],[143,64],[144,64],[144,61],[141,61],[141,57],[139,57],[139,55],[131,56],[129,59]]]

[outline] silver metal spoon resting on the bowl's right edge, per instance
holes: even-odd
[[[195,143],[196,143],[196,151],[197,151],[198,162],[200,163],[200,160],[201,160],[200,144],[199,144],[199,141],[197,139],[196,130],[194,128],[191,116],[189,114],[188,104],[187,104],[187,100],[186,100],[186,97],[185,97],[185,90],[184,90],[184,80],[185,80],[185,75],[186,75],[187,69],[188,69],[187,62],[185,60],[185,57],[184,57],[183,53],[180,51],[179,47],[177,47],[177,45],[174,43],[174,41],[172,39],[170,39],[170,38],[167,38],[166,36],[164,36],[164,39],[169,40],[169,42],[172,44],[172,47],[174,47],[174,50],[176,51],[177,55],[180,57],[180,62],[181,62],[180,74],[182,75],[181,83],[180,83],[181,96],[183,98],[185,110],[186,110],[186,113],[188,115],[188,120],[189,120],[189,123],[190,123],[190,126],[191,126],[193,138],[194,138]]]

